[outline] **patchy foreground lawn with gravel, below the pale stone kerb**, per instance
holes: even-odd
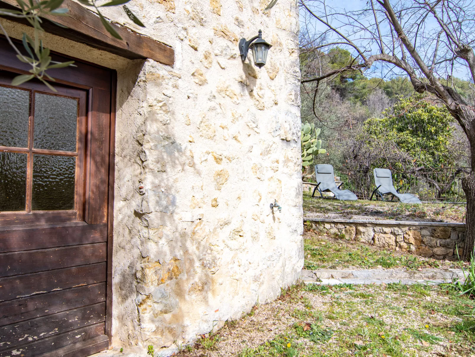
[[[179,356],[470,357],[474,305],[445,286],[296,285]]]

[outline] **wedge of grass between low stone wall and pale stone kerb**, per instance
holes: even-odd
[[[424,258],[395,250],[369,246],[305,229],[305,269],[351,268],[461,268],[461,261]]]

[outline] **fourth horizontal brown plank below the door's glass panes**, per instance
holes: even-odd
[[[105,301],[105,283],[0,302],[0,326]]]

